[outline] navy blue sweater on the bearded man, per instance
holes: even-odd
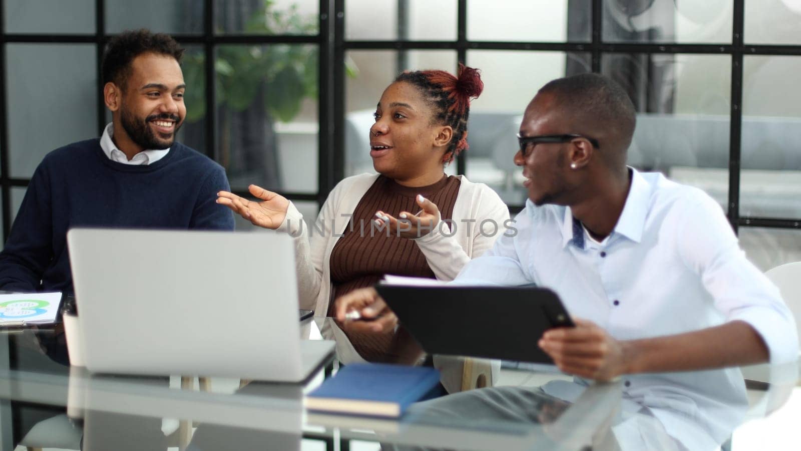
[[[109,160],[99,139],[58,148],[34,172],[0,252],[0,290],[71,293],[73,227],[233,230],[220,190],[229,190],[223,168],[177,142],[142,166]]]

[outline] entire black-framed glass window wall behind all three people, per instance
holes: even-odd
[[[797,1],[3,0],[0,26],[4,237],[42,156],[109,120],[104,43],[146,26],[187,47],[180,139],[236,191],[262,184],[313,216],[342,177],[372,171],[372,110],[393,77],[461,61],[485,92],[448,172],[520,209],[525,104],[549,79],[595,71],[638,108],[630,165],[709,193],[761,268],[801,254]]]

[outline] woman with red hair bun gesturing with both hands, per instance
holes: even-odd
[[[478,71],[461,64],[458,77],[446,71],[398,75],[381,95],[369,131],[377,174],[340,181],[313,224],[304,226],[291,201],[256,185],[250,193],[261,201],[223,192],[218,202],[255,225],[292,234],[300,306],[316,315],[334,316],[332,299],[372,286],[384,274],[452,280],[493,246],[509,219],[492,189],[445,175],[445,165],[468,147],[470,100],[483,88]],[[337,339],[348,344],[338,345],[340,360],[397,360],[405,340],[356,323],[339,323],[336,333],[348,337]],[[445,373],[445,388],[457,391],[461,372]]]

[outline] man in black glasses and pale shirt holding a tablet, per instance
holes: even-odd
[[[578,384],[622,377],[626,399],[678,449],[716,449],[747,405],[733,367],[797,360],[795,321],[711,197],[626,166],[635,122],[626,92],[601,75],[542,87],[514,156],[529,195],[518,233],[498,238],[456,281],[553,289],[576,327],[531,346]],[[372,301],[362,316],[392,315],[368,291],[352,299]],[[558,384],[542,389],[572,400]],[[482,394],[442,402],[465,404],[456,396]]]

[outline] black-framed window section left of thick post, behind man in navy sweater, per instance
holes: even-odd
[[[328,2],[3,0],[0,22],[4,238],[42,156],[99,136],[111,120],[100,56],[123,30],[166,32],[187,49],[178,139],[223,165],[231,189],[262,185],[313,217],[337,180],[326,125]]]

